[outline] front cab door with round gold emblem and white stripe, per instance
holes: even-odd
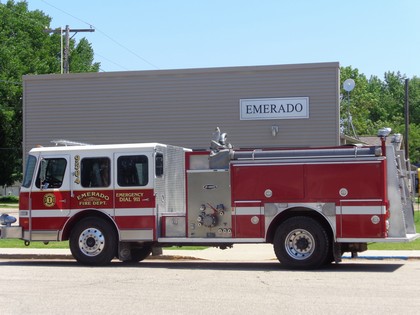
[[[30,240],[58,240],[70,214],[70,161],[69,155],[40,155],[30,192]]]

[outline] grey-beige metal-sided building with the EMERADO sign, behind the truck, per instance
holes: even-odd
[[[23,149],[54,139],[208,148],[340,143],[339,64],[23,77]]]

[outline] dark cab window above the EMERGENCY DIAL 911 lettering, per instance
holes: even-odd
[[[144,155],[120,156],[117,160],[118,185],[146,186],[149,182],[149,160]]]

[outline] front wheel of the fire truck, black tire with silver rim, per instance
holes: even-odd
[[[113,226],[98,217],[78,222],[70,234],[70,250],[83,265],[104,266],[117,254],[117,234]]]

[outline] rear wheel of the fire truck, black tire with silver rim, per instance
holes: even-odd
[[[330,240],[315,219],[297,216],[284,221],[274,235],[274,252],[287,268],[315,269],[330,257]]]

